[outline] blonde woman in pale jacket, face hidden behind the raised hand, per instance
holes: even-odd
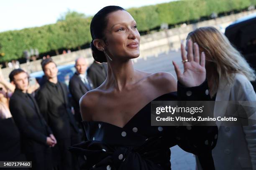
[[[213,27],[198,28],[190,32],[187,39],[197,43],[200,51],[205,52],[212,100],[256,101],[250,83],[256,78],[255,72],[222,33]],[[229,107],[223,103],[215,103],[215,116],[232,115],[239,108],[243,108],[243,112],[251,114],[251,117],[256,115],[255,109],[246,110],[242,105]],[[256,126],[218,125],[218,128],[217,145],[212,150],[216,170],[256,169]],[[198,161],[197,169],[201,169]]]

